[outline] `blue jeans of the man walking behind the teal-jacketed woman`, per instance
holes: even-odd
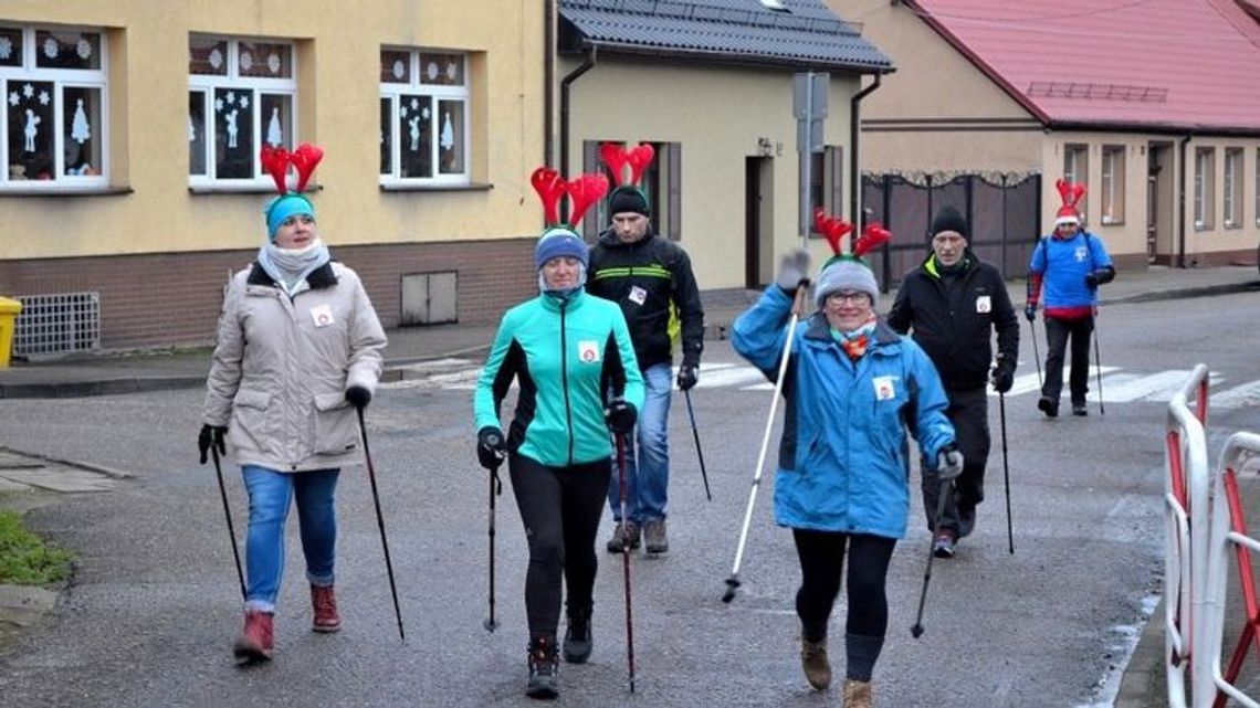
[[[643,411],[639,411],[638,456],[635,438],[626,438],[626,515],[636,524],[665,518],[665,504],[669,501],[669,393],[674,385],[669,364],[648,367],[643,379],[646,393]],[[619,464],[614,451],[609,506],[617,522],[621,520]]]

